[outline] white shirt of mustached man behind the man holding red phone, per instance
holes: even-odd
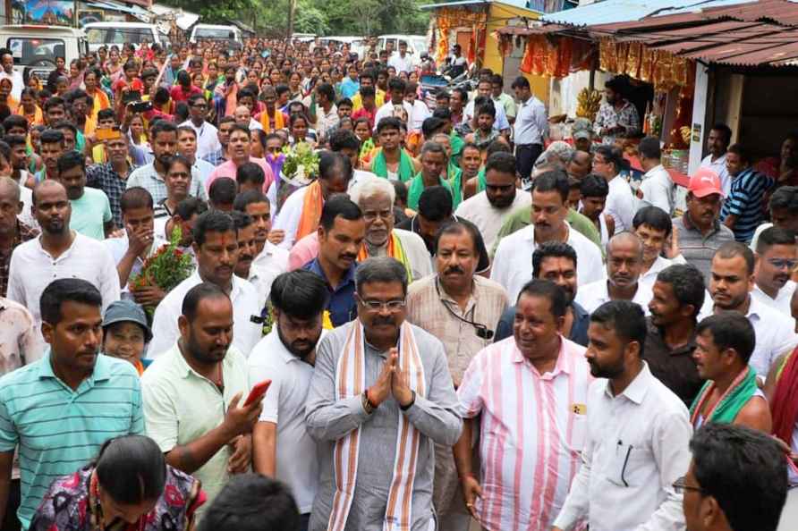
[[[195,271],[183,282],[177,284],[174,290],[169,291],[166,297],[155,308],[152,317],[152,341],[147,350],[148,358],[158,358],[174,345],[180,336],[177,328],[177,318],[183,315],[183,298],[194,286],[202,283],[200,272]],[[233,346],[241,350],[244,356],[250,355],[250,350],[260,341],[263,328],[250,321],[251,316],[260,316],[258,306],[258,291],[255,287],[233,274],[233,291],[230,292],[233,301]]]

